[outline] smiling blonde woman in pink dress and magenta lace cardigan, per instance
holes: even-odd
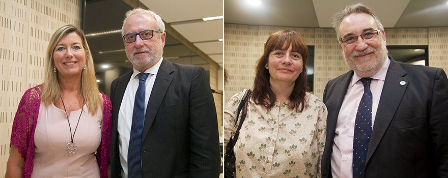
[[[84,33],[59,28],[48,44],[44,82],[17,108],[5,177],[107,177],[110,117]]]

